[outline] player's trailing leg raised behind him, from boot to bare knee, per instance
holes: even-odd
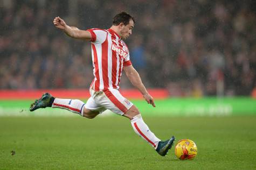
[[[93,102],[91,100],[88,100],[88,101]],[[79,114],[86,118],[94,118],[100,113],[99,111],[96,111],[96,110],[87,109],[85,107],[85,103],[80,100],[55,98],[49,93],[43,94],[41,98],[34,101],[34,103],[30,105],[30,111],[34,111],[39,108],[46,108],[46,107],[66,109],[68,111],[72,111],[75,114]]]

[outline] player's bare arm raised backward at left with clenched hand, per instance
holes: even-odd
[[[63,19],[60,17],[56,17],[53,19],[53,24],[58,29],[62,30],[72,38],[83,39],[83,40],[91,40],[91,33],[89,31],[79,30],[77,27],[68,26]]]

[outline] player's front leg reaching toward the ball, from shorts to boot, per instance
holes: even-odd
[[[104,95],[100,95],[97,102],[101,103],[105,108],[114,113],[129,118],[135,133],[153,146],[158,154],[165,156],[174,144],[175,137],[171,137],[165,141],[158,139],[143,121],[142,116],[135,105],[124,98],[118,90],[104,90]]]

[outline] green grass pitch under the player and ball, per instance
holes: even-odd
[[[0,169],[255,169],[256,116],[144,117],[158,138],[197,144],[161,157],[121,116],[0,117]],[[15,151],[15,155],[11,155]]]

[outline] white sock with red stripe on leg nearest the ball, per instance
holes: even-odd
[[[149,130],[141,115],[135,116],[130,122],[132,123],[135,133],[137,133],[140,137],[142,137],[156,149],[158,142],[161,140],[158,139],[155,134]]]

